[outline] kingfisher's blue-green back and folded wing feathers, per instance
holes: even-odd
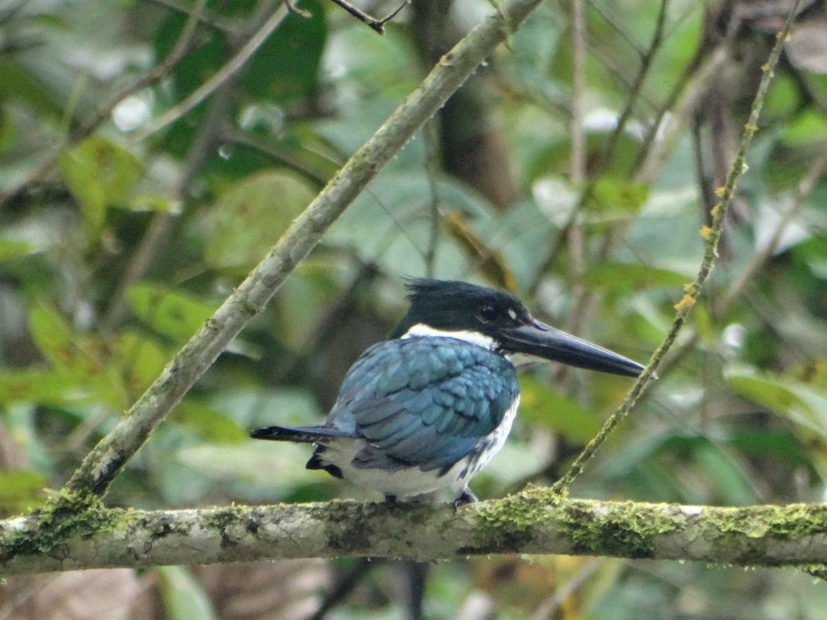
[[[348,371],[328,424],[369,445],[364,469],[447,469],[474,451],[517,398],[514,366],[467,341],[380,342]]]

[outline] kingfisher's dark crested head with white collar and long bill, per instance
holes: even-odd
[[[456,280],[412,279],[410,308],[390,338],[448,336],[497,351],[515,365],[551,360],[636,377],[643,366],[532,317],[514,295]]]

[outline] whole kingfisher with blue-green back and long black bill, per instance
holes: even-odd
[[[254,439],[315,444],[324,470],[388,501],[450,489],[457,508],[505,443],[519,405],[517,367],[553,360],[636,377],[643,366],[539,322],[510,293],[411,279],[388,340],[347,371],[324,424],[260,428]]]

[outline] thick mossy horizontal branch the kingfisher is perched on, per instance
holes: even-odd
[[[59,536],[43,536],[42,527],[36,517],[0,522],[0,575],[302,557],[425,561],[492,553],[762,566],[827,561],[827,504],[714,508],[562,498],[544,489],[457,512],[428,503],[347,501],[173,511],[93,507]]]

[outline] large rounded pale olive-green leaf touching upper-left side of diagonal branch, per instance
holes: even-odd
[[[315,195],[304,179],[283,169],[238,182],[207,215],[206,260],[218,268],[255,265]]]

